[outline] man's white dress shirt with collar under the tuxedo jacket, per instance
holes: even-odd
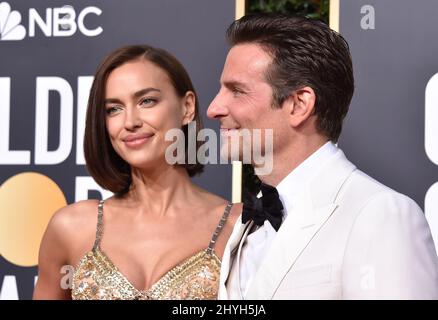
[[[337,147],[332,142],[327,142],[278,184],[276,188],[284,207],[283,221],[288,214],[293,214],[294,199],[299,195],[302,186],[312,179],[319,167],[328,161],[336,151]],[[261,194],[258,195],[258,197],[260,196]],[[240,289],[243,298],[247,296],[248,288],[276,235],[277,231],[266,220],[263,226],[250,233],[245,239],[239,263]]]

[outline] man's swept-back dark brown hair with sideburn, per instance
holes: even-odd
[[[306,17],[253,14],[234,21],[227,39],[232,46],[258,44],[272,56],[265,77],[275,107],[281,107],[293,91],[311,87],[318,130],[338,140],[354,92],[349,47],[339,33]]]

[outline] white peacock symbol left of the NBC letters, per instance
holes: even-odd
[[[11,10],[7,2],[0,3],[0,40],[23,40],[26,29],[20,24],[21,14]]]

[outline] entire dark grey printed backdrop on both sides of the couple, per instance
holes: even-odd
[[[339,146],[361,169],[413,198],[438,243],[436,0],[339,0],[356,92]],[[148,43],[186,66],[205,111],[227,52],[235,1],[0,0],[0,299],[30,299],[37,255],[58,208],[107,197],[82,153],[88,92],[116,47]],[[332,25],[333,24],[332,21]],[[231,196],[231,168],[196,182]]]

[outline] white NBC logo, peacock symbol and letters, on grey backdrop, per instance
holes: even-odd
[[[101,26],[90,29],[84,23],[85,18],[90,14],[101,15],[102,10],[97,7],[85,7],[78,14],[70,5],[46,8],[45,11],[44,16],[35,8],[29,8],[29,37],[35,37],[37,29],[46,37],[71,37],[76,32],[87,37],[95,37],[103,31]],[[9,3],[0,2],[0,40],[23,40],[26,37],[26,28],[20,23],[21,14],[16,10],[11,10]]]

